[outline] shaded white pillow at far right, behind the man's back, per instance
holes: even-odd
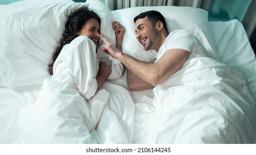
[[[210,25],[216,53],[222,63],[243,71],[256,103],[256,59],[242,23],[234,19],[228,22],[210,22]]]

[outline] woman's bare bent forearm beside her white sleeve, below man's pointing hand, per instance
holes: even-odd
[[[109,68],[109,66],[106,65],[105,61],[100,62],[98,74],[97,74],[97,77],[96,77],[96,80],[97,80],[97,83],[98,83],[98,89],[106,81],[106,79],[107,79],[107,77],[109,77],[110,73],[111,73],[111,69]]]

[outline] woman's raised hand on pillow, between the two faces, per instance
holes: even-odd
[[[119,22],[112,22],[116,34],[116,47],[122,50],[122,40],[124,39],[125,28]]]

